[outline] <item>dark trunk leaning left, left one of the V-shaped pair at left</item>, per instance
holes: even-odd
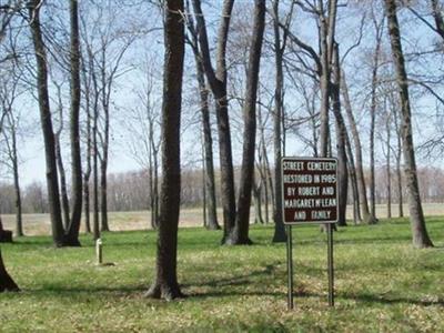
[[[29,13],[32,41],[37,61],[37,88],[39,97],[40,120],[43,132],[44,153],[47,162],[47,186],[49,212],[52,226],[52,239],[56,246],[63,245],[63,224],[60,210],[60,193],[56,162],[54,132],[52,130],[51,111],[48,97],[48,69],[44,43],[40,30],[40,1],[29,2]]]

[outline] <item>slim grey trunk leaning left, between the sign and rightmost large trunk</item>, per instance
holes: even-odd
[[[355,157],[356,157],[356,179],[357,179],[357,190],[359,190],[360,199],[361,199],[362,219],[363,219],[364,223],[374,224],[374,223],[376,223],[376,221],[369,211],[364,170],[363,170],[363,165],[362,165],[363,162],[362,162],[362,147],[361,147],[360,134],[357,131],[356,121],[354,120],[352,104],[350,102],[350,97],[349,97],[349,88],[346,85],[345,74],[343,71],[341,72],[341,80],[342,80],[341,81],[341,91],[342,91],[342,95],[344,99],[344,108],[345,108],[346,115],[349,119],[349,124],[352,130],[352,138],[353,138],[353,142],[354,142],[354,150],[355,150]]]

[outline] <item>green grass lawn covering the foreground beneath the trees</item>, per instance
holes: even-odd
[[[444,332],[444,218],[430,218],[434,249],[411,246],[406,220],[335,233],[336,306],[327,306],[326,240],[294,228],[295,309],[286,310],[285,244],[253,226],[251,246],[220,246],[221,232],[181,229],[179,280],[188,299],[143,297],[154,271],[155,233],[103,235],[95,266],[81,249],[48,236],[2,244],[21,293],[0,295],[0,332]]]

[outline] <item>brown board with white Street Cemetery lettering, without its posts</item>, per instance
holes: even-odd
[[[285,224],[337,222],[337,160],[282,159]]]

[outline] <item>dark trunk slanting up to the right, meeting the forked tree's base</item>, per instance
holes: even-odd
[[[239,183],[235,226],[225,244],[251,244],[249,239],[251,192],[254,176],[256,139],[256,98],[263,32],[265,27],[265,0],[254,1],[254,23],[246,71],[245,102],[243,107],[244,131],[241,179]]]

